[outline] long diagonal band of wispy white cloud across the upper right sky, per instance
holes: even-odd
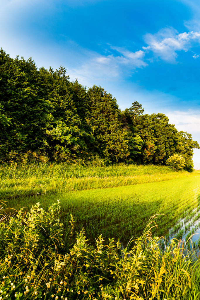
[[[78,69],[73,69],[74,76],[83,78],[89,76],[96,79],[103,76],[104,79],[116,79],[120,76],[130,76],[136,68],[148,66],[148,62],[159,58],[167,63],[176,63],[178,51],[189,51],[194,46],[200,45],[200,32],[178,33],[173,28],[161,29],[155,34],[146,34],[144,40],[147,46],[142,50],[130,51],[125,47],[109,46],[105,55],[96,52],[88,52],[88,59]],[[112,50],[115,53],[112,53]],[[111,54],[107,54],[107,53]],[[146,58],[146,53],[152,58]],[[199,58],[199,54],[192,51],[193,58]],[[87,75],[86,75],[87,74]]]

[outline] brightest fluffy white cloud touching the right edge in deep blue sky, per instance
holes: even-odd
[[[145,35],[146,51],[152,51],[163,61],[174,63],[178,56],[177,51],[188,51],[195,43],[200,44],[200,32],[178,32],[173,28],[162,29],[156,34]],[[196,57],[195,57],[196,58]]]

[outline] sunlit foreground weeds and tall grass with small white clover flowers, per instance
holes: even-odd
[[[84,230],[73,240],[73,217],[63,224],[60,211],[59,203],[47,211],[37,204],[1,219],[1,300],[200,298],[199,261],[173,240],[163,252],[154,219],[129,251],[102,235],[92,246]]]

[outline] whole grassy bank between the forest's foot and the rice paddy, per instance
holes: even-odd
[[[84,167],[69,164],[3,165],[0,198],[26,197],[131,184],[160,182],[190,176],[165,166],[112,165]]]

